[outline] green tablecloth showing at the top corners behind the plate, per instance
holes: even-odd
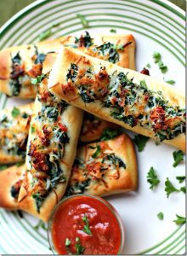
[[[178,7],[180,7],[181,9],[185,10],[185,6],[186,6],[185,0],[169,0],[169,1],[178,5]],[[24,7],[26,7],[26,5],[33,2],[35,1],[33,0],[0,0],[0,26],[2,26],[3,23],[5,23],[5,21],[11,18],[20,9],[23,9]]]

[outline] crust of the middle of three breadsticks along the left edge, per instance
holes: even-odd
[[[0,111],[0,116],[3,117],[3,115],[6,115],[8,117],[8,120],[10,122],[13,122],[12,125],[10,125],[8,128],[0,127],[0,137],[2,138],[8,138],[9,140],[12,139],[12,137],[22,137],[22,139],[26,139],[29,133],[29,127],[30,127],[30,120],[31,120],[31,113],[34,108],[34,103],[29,103],[26,105],[22,105],[19,107],[16,107],[20,109],[20,113],[27,113],[28,117],[26,119],[22,118],[19,114],[17,117],[12,117],[12,110],[13,108],[6,108]],[[15,139],[15,138],[14,138]],[[12,145],[14,146],[14,145]],[[16,145],[15,145],[16,146]],[[6,152],[6,150],[3,150],[3,148],[0,147],[0,164],[9,164],[9,163],[17,163],[22,161],[23,158],[19,154],[10,154]]]

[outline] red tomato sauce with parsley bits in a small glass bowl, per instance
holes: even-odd
[[[88,219],[92,235],[83,231],[82,218]],[[84,247],[82,254],[117,254],[121,246],[121,228],[111,210],[99,200],[80,195],[65,201],[54,213],[52,240],[59,254],[77,254],[76,238]],[[71,244],[65,247],[68,238]]]

